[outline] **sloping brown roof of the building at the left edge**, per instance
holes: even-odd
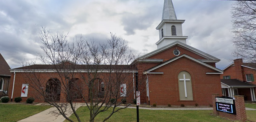
[[[5,61],[5,58],[0,53],[0,76],[11,76],[11,69],[7,62]]]

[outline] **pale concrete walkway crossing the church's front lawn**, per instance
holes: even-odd
[[[40,105],[40,104],[38,104]],[[80,106],[83,106],[83,104],[77,104],[77,108],[79,108]],[[128,107],[131,109],[136,109],[136,107]],[[147,109],[147,110],[212,110],[213,108],[139,108],[139,109]],[[256,110],[256,109],[251,109],[251,108],[245,108],[246,110]],[[23,120],[20,120],[18,122],[63,122],[65,121],[65,118],[60,115],[57,118],[55,116],[52,116],[51,114],[49,114],[49,112],[56,110],[56,108],[50,108],[47,109],[43,112],[40,112],[36,115],[30,116],[28,118],[25,118]],[[72,112],[71,112],[72,113]],[[67,117],[69,117],[71,115],[71,113],[69,113],[67,115]]]

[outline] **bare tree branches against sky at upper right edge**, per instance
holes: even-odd
[[[232,6],[234,54],[256,62],[256,1],[236,1]]]

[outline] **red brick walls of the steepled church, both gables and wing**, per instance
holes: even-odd
[[[164,59],[164,61],[174,58],[175,55],[172,53],[174,49],[179,49],[181,54],[189,55],[195,59],[206,59],[200,55],[190,52],[180,46],[173,46],[165,51],[156,53],[149,58]],[[179,56],[180,56],[179,55]],[[157,105],[209,105],[212,104],[211,94],[221,94],[221,84],[220,84],[220,75],[219,74],[206,74],[206,73],[216,73],[215,70],[212,70],[209,67],[206,67],[198,62],[192,61],[191,59],[182,57],[175,61],[170,62],[160,68],[153,70],[152,72],[163,72],[163,74],[143,74],[143,72],[151,67],[159,65],[160,63],[138,63],[137,68],[139,76],[146,77],[148,76],[149,81],[149,97],[150,105],[157,103]],[[215,67],[215,63],[209,64]],[[193,100],[192,101],[181,101],[179,98],[179,79],[178,74],[181,71],[187,71],[191,75],[192,91],[193,91]],[[133,73],[130,73],[131,76]],[[51,75],[51,76],[49,76]],[[50,78],[54,77],[54,73],[40,73],[40,76],[46,82]],[[58,78],[58,76],[56,76]],[[79,77],[77,77],[79,78]],[[11,74],[11,81],[14,79],[14,73]],[[13,99],[15,97],[21,96],[21,86],[26,82],[26,75],[23,73],[17,73],[15,76],[15,85]],[[148,104],[148,97],[146,92],[146,80],[139,79],[139,84],[141,85],[141,103]],[[9,93],[12,92],[13,82],[10,82]],[[133,86],[130,86],[133,87]],[[29,87],[28,97],[37,97],[36,92],[32,87]],[[86,93],[86,92],[85,92]],[[61,94],[60,102],[65,102],[63,100],[63,94]],[[23,101],[27,97],[23,98]],[[133,99],[132,97],[130,99]],[[38,101],[36,102],[43,102]]]

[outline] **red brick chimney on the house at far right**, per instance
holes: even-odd
[[[240,81],[245,81],[243,69],[241,66],[243,65],[243,59],[242,58],[235,59],[234,64],[235,64],[235,78]]]

